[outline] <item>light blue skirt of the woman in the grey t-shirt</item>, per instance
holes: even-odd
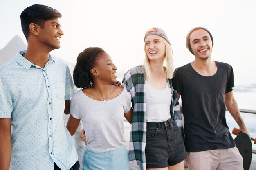
[[[129,170],[127,150],[124,145],[116,150],[94,153],[85,149],[83,170]]]

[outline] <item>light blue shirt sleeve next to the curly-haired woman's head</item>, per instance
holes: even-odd
[[[67,65],[67,69],[66,69],[66,88],[65,88],[65,100],[68,100],[71,98],[72,94],[74,94],[74,92],[76,92],[75,87],[74,87],[74,83],[70,74],[70,69],[68,68]]]

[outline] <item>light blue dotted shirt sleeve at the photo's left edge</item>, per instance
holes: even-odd
[[[12,111],[11,93],[8,90],[7,83],[4,83],[0,77],[0,118],[11,118]]]

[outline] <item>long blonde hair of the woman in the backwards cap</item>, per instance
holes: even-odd
[[[146,34],[153,33],[153,32],[156,32],[156,30],[149,29],[146,32]],[[167,78],[173,78],[173,50],[171,48],[171,45],[164,38],[162,38],[162,39],[164,41],[165,51],[166,51],[162,65],[165,66],[165,72],[166,72]],[[145,52],[145,60],[143,63],[144,74],[145,74],[146,80],[150,81],[151,80],[151,69],[150,69],[148,55],[146,53],[146,40],[145,40],[145,44],[144,44],[144,52]]]

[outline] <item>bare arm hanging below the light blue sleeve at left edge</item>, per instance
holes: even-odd
[[[11,162],[11,119],[0,118],[0,169],[9,170]]]

